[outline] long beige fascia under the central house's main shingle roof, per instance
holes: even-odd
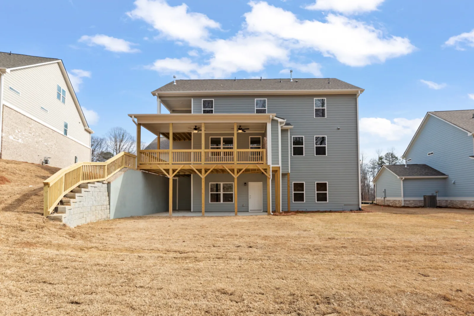
[[[223,90],[223,91],[158,91],[152,92],[158,97],[168,96],[206,96],[206,95],[278,95],[278,94],[358,94],[364,89],[330,89],[330,90]]]

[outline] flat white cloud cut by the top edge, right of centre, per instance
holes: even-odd
[[[332,10],[345,14],[375,11],[384,0],[316,0],[309,10]]]

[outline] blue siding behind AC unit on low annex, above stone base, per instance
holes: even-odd
[[[405,179],[403,180],[403,198],[422,199],[424,195],[433,195],[438,191],[438,196],[446,197],[446,179]]]

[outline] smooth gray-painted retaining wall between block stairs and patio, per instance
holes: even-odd
[[[169,180],[153,173],[127,169],[108,183],[110,218],[168,211]]]

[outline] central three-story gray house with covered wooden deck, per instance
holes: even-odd
[[[360,208],[358,97],[337,79],[176,80],[157,113],[129,114],[169,140],[137,168],[169,178],[169,212]],[[161,105],[169,114],[161,114]]]

